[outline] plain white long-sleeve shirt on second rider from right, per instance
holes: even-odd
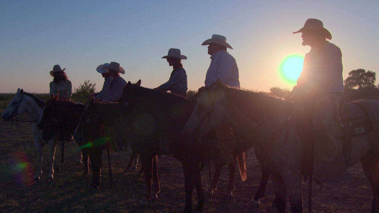
[[[226,50],[213,53],[211,64],[205,75],[205,86],[210,86],[217,79],[224,85],[240,87],[236,60]]]

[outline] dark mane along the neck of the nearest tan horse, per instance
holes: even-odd
[[[227,91],[227,100],[254,119],[263,119],[267,115],[276,115],[283,108],[292,107],[290,102],[285,102],[279,97],[246,89],[222,86]]]

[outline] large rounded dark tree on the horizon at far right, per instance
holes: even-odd
[[[376,73],[365,69],[356,69],[349,72],[349,77],[345,80],[345,87],[353,89],[375,88]]]

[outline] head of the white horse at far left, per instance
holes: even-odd
[[[8,107],[6,107],[5,111],[3,112],[2,118],[4,121],[10,121],[12,117],[25,112],[27,103],[23,97],[23,89],[18,88],[16,95],[12,98],[11,102],[9,102]]]

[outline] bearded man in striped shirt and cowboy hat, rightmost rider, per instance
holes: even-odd
[[[311,47],[305,55],[303,70],[293,88],[293,94],[299,95],[301,99],[306,91],[309,92],[300,101],[313,107],[313,177],[328,183],[331,179],[338,179],[337,176],[345,175],[341,171],[346,171],[342,150],[338,148],[341,136],[338,110],[344,100],[342,53],[339,47],[326,41],[332,39],[332,35],[318,19],[308,19],[303,28],[293,33],[302,33],[302,45]],[[309,110],[312,111],[312,108]],[[336,174],[326,177],[323,173],[326,170],[332,170]]]

